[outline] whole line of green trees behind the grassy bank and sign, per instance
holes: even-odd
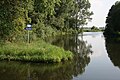
[[[26,33],[27,24],[38,37],[74,32],[91,20],[89,0],[0,0],[0,39]]]

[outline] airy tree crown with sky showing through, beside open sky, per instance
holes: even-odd
[[[91,5],[89,0],[75,0],[75,17],[76,17],[76,28],[78,26],[86,25],[88,21],[90,21],[92,18],[90,18],[91,15],[93,15],[93,12],[89,11]]]

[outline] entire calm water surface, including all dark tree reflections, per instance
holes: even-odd
[[[71,50],[74,60],[59,64],[0,62],[0,80],[120,80],[120,39],[101,32],[46,39]]]

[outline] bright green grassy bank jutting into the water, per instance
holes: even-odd
[[[70,51],[65,51],[63,48],[45,43],[42,40],[31,43],[6,42],[0,46],[0,60],[61,62],[73,57]]]

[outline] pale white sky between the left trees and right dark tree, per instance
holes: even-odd
[[[116,1],[120,0],[89,0],[91,3],[91,11],[93,11],[94,15],[92,15],[92,21],[86,25],[87,27],[104,27],[107,14],[109,9]],[[85,27],[86,27],[85,26]]]

